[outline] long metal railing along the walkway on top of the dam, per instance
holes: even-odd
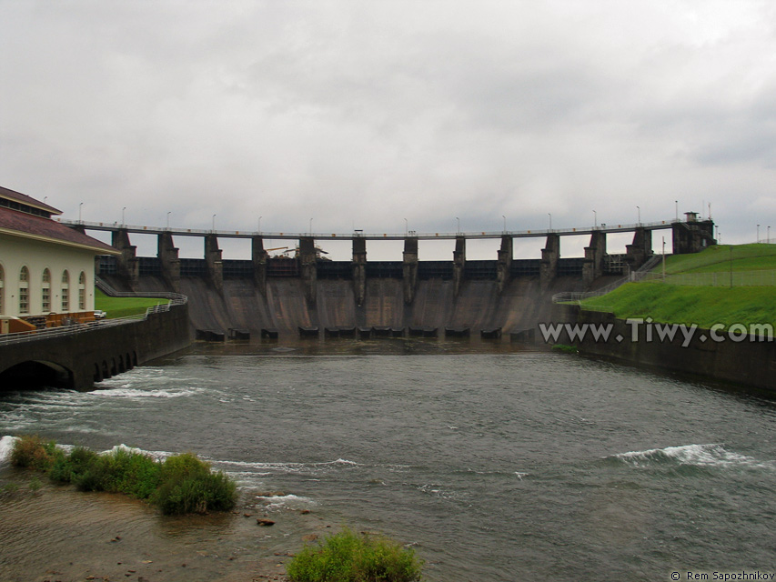
[[[298,239],[298,238],[314,238],[316,240],[352,240],[355,238],[362,238],[366,240],[405,240],[407,238],[418,238],[419,240],[443,240],[443,239],[456,239],[456,238],[501,238],[503,236],[511,236],[513,238],[530,238],[537,236],[576,236],[576,235],[591,235],[592,233],[625,233],[632,232],[638,228],[644,230],[661,230],[671,228],[674,223],[680,222],[678,219],[660,220],[658,222],[639,222],[632,224],[618,224],[618,225],[598,225],[598,226],[583,226],[583,227],[569,227],[569,228],[537,228],[530,230],[499,230],[499,231],[477,231],[477,232],[438,232],[438,233],[418,233],[414,230],[409,230],[403,234],[397,233],[365,233],[361,231],[354,231],[352,233],[313,233],[313,232],[265,232],[265,231],[247,231],[247,230],[217,230],[206,228],[171,228],[169,226],[137,226],[137,225],[125,225],[117,222],[86,222],[83,220],[66,220],[56,219],[58,222],[66,226],[82,227],[88,230],[103,230],[103,231],[116,231],[125,230],[127,233],[146,234],[146,235],[161,235],[169,234],[171,236],[208,236],[214,235],[219,238],[253,238],[255,236],[262,236],[269,239]]]

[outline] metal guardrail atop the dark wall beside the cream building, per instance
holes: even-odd
[[[47,339],[49,337],[61,337],[61,336],[74,336],[76,334],[82,334],[89,331],[95,331],[96,329],[105,329],[109,326],[122,326],[134,321],[147,319],[148,316],[157,313],[165,313],[170,310],[171,306],[186,305],[188,297],[180,293],[126,293],[116,291],[113,287],[109,286],[105,281],[96,277],[95,286],[99,288],[107,296],[113,297],[151,297],[159,299],[167,299],[165,304],[151,306],[146,308],[146,312],[137,316],[116,317],[115,319],[97,319],[90,321],[86,324],[71,324],[69,326],[48,327],[46,329],[33,329],[30,331],[20,331],[13,334],[0,335],[0,346],[4,344],[14,344],[25,341],[35,341],[39,339]]]

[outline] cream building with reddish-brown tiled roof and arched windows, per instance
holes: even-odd
[[[61,214],[0,186],[0,333],[94,319],[95,256],[119,252],[51,218]]]

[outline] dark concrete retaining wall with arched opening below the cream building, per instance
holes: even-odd
[[[89,331],[45,337],[0,346],[0,375],[21,365],[45,366],[56,372],[56,384],[88,389],[95,381],[114,376],[190,344],[186,305],[122,325],[93,324]],[[24,370],[22,370],[24,372]],[[0,376],[0,387],[10,384]]]

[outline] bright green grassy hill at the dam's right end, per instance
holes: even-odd
[[[605,296],[592,297],[582,305],[611,311],[621,318],[651,317],[661,323],[697,324],[706,328],[715,324],[776,326],[776,286],[741,286],[743,281],[754,280],[752,272],[771,275],[766,272],[774,269],[776,246],[711,246],[695,255],[666,257],[667,281],[683,285],[660,280],[629,283]],[[660,265],[654,269],[654,273],[661,272]],[[776,277],[757,280],[776,281]]]

